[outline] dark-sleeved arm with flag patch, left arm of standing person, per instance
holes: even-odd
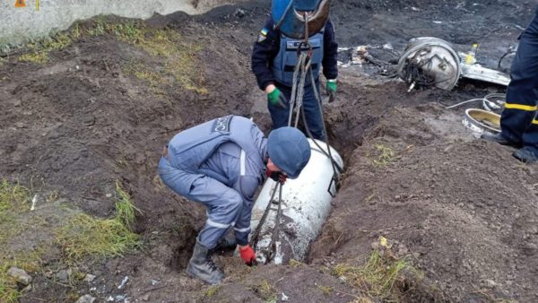
[[[260,90],[270,93],[274,90],[274,76],[269,66],[280,48],[280,36],[273,30],[274,22],[269,18],[260,31],[258,39],[252,49],[252,72]]]

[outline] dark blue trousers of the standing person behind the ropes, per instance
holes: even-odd
[[[291,87],[281,84],[276,84],[276,86],[280,91],[282,91],[282,93],[284,94],[284,96],[286,96],[288,100],[291,100]],[[319,82],[317,81],[316,87],[317,93],[320,93]],[[305,116],[307,117],[308,129],[312,133],[312,136],[314,137],[314,139],[325,141],[325,134],[323,132],[323,120],[320,112],[321,105],[316,100],[316,95],[314,94],[314,88],[312,87],[312,85],[305,86],[305,93],[302,104],[305,108]],[[278,108],[273,106],[271,103],[268,103],[267,108],[269,108],[271,118],[273,119],[273,129],[288,126],[291,108]],[[293,120],[291,121],[292,124],[295,121],[294,119],[295,117],[293,117]]]

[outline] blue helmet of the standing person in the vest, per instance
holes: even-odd
[[[323,29],[329,17],[331,0],[273,0],[275,28],[293,39],[305,39],[305,17],[308,13],[308,38]]]

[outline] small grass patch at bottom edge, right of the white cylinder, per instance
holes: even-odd
[[[360,267],[338,264],[333,269],[334,276],[365,290],[370,296],[380,299],[397,299],[395,283],[404,281],[404,270],[416,272],[405,259],[382,255],[374,250],[366,264]]]

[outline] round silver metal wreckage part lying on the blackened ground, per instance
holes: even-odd
[[[460,57],[445,40],[421,37],[409,40],[398,60],[398,75],[410,85],[434,85],[450,91],[462,73]]]

